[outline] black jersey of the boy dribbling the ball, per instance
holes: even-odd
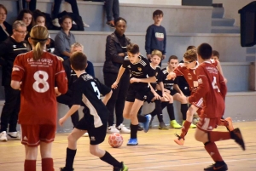
[[[144,58],[143,55],[139,55],[139,62],[136,64],[132,64],[128,58],[128,56],[125,57],[123,67],[125,69],[128,69],[131,72],[131,77],[136,78],[147,78],[147,77],[154,77],[155,71],[150,66],[148,59]],[[148,83],[132,83],[133,85],[148,85]]]

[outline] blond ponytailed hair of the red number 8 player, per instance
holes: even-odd
[[[33,26],[30,32],[33,45],[33,59],[39,60],[44,53],[44,46],[49,38],[48,30],[45,26]]]

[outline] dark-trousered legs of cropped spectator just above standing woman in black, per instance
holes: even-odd
[[[119,18],[119,0],[105,0],[107,25],[114,28],[114,20]]]

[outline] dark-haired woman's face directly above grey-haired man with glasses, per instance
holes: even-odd
[[[29,37],[29,33],[34,26],[34,19],[32,12],[29,9],[22,9],[20,13],[18,14],[17,20],[23,20],[26,24],[26,31],[28,31],[28,34],[26,34],[25,40]]]

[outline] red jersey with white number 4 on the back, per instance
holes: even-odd
[[[211,61],[205,61],[196,68],[198,87],[189,96],[189,102],[203,98],[202,114],[207,118],[222,117],[224,114],[224,97],[227,87],[224,77],[218,72]]]

